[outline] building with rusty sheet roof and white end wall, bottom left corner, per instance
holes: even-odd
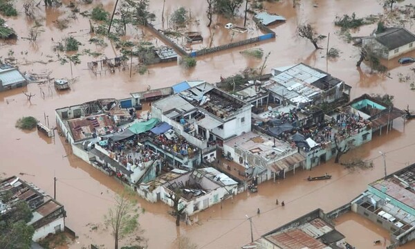
[[[10,194],[10,201],[0,201],[0,214],[13,212],[13,206],[25,201],[32,211],[33,217],[28,222],[35,228],[33,241],[39,241],[48,234],[63,232],[66,211],[64,206],[48,196],[32,183],[26,183],[17,176],[6,178],[0,183],[0,195]]]

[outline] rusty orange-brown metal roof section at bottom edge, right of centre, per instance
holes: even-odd
[[[277,245],[281,249],[325,249],[329,248],[324,243],[314,239],[305,232],[299,229],[279,232],[277,234],[268,235],[266,237],[269,241]]]

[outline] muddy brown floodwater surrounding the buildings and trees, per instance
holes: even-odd
[[[19,6],[18,9],[23,8]],[[100,1],[104,8],[111,10],[114,2],[111,0]],[[189,6],[188,1],[175,0],[166,1],[165,11],[171,13],[178,6],[185,6],[190,9],[192,16],[199,20],[199,28],[203,33],[208,33],[205,28],[207,18],[205,17],[205,1],[203,4]],[[277,37],[275,40],[251,44],[232,50],[215,53],[199,57],[195,68],[186,70],[178,66],[176,62],[149,66],[149,72],[139,75],[133,71],[132,77],[129,72],[116,71],[113,75],[102,72],[102,75],[95,76],[91,73],[86,62],[91,62],[95,58],[89,55],[80,56],[82,63],[73,66],[73,77],[75,82],[72,84],[71,91],[66,93],[56,93],[53,87],[46,85],[30,84],[23,89],[15,89],[0,93],[0,172],[7,176],[19,175],[26,181],[30,181],[42,187],[48,194],[53,195],[53,177],[56,176],[57,200],[65,205],[68,213],[66,225],[75,230],[79,238],[71,244],[70,248],[82,248],[90,243],[106,245],[111,247],[112,239],[109,231],[103,229],[102,216],[108,208],[113,205],[113,195],[122,190],[122,186],[113,178],[102,174],[90,165],[84,163],[79,158],[71,155],[71,150],[62,138],[57,136],[55,140],[44,138],[37,131],[22,132],[15,128],[15,121],[21,116],[35,116],[42,122],[50,123],[55,126],[54,110],[59,107],[66,107],[79,104],[97,98],[125,98],[133,91],[142,91],[151,85],[151,88],[171,86],[182,80],[207,80],[208,82],[219,81],[220,75],[232,75],[246,68],[246,66],[256,68],[261,65],[261,59],[250,59],[244,57],[239,52],[246,48],[260,47],[265,53],[271,52],[267,61],[266,71],[277,66],[286,66],[304,62],[315,66],[324,71],[328,71],[335,77],[339,77],[347,84],[353,86],[351,91],[352,98],[356,98],[362,93],[389,93],[394,95],[394,104],[398,108],[406,108],[409,104],[410,109],[415,109],[415,93],[409,89],[408,82],[399,82],[398,73],[412,75],[411,66],[399,66],[395,62],[388,66],[391,68],[390,75],[371,74],[370,68],[362,64],[362,68],[356,68],[358,59],[358,48],[344,42],[338,35],[338,28],[333,25],[333,20],[338,15],[344,13],[351,14],[356,12],[358,17],[369,14],[383,12],[383,8],[372,0],[352,0],[352,1],[301,1],[301,5],[293,8],[292,1],[280,1],[279,3],[266,3],[270,12],[277,12],[287,18],[285,24],[271,26]],[[405,1],[405,3],[414,1]],[[68,1],[64,1],[68,3]],[[314,8],[313,3],[318,3]],[[96,1],[93,6],[98,5]],[[88,10],[91,6],[80,6],[80,10]],[[158,20],[156,24],[161,24],[160,12],[163,8],[163,1],[151,1],[151,9],[156,10]],[[94,44],[89,44],[88,40],[92,37],[89,34],[88,19],[77,15],[77,19],[71,19],[69,27],[59,30],[55,26],[56,19],[67,17],[69,9],[62,6],[58,10],[44,9],[40,7],[37,11],[44,32],[39,36],[36,43],[30,43],[27,39],[18,39],[15,43],[0,44],[0,56],[2,59],[8,57],[10,50],[14,52],[17,63],[20,64],[21,71],[42,73],[52,71],[52,77],[71,77],[69,64],[61,65],[57,58],[57,53],[52,47],[60,40],[73,35],[82,43],[80,50],[91,49],[104,53],[107,57],[115,57],[119,52],[113,44],[106,40],[108,46],[101,48]],[[240,12],[240,15],[241,12]],[[236,23],[241,23],[239,17]],[[214,21],[225,23],[224,19],[214,17]],[[24,13],[15,19],[7,19],[8,25],[15,28],[19,37],[27,37],[33,21],[26,20]],[[317,32],[329,35],[329,47],[338,48],[341,53],[338,59],[326,59],[325,50],[315,51],[313,45],[295,35],[295,28],[298,23],[309,21],[316,27]],[[249,22],[248,22],[249,24]],[[407,25],[409,30],[414,31],[412,25]],[[360,30],[354,30],[352,35],[365,35],[370,33],[374,26],[367,26]],[[223,33],[223,31],[222,31]],[[215,34],[217,41],[225,38]],[[144,36],[144,37],[143,37]],[[156,39],[147,30],[127,30],[127,37],[144,38],[147,40]],[[53,38],[53,39],[52,39]],[[327,40],[323,40],[320,46],[326,48]],[[158,40],[160,43],[160,40]],[[26,53],[27,52],[27,53]],[[60,53],[63,56],[64,53]],[[98,57],[99,58],[99,57]],[[48,62],[50,59],[53,62]],[[136,60],[133,60],[136,62]],[[48,62],[48,63],[47,63]],[[36,94],[31,102],[26,100],[26,96],[21,91],[28,91]],[[44,98],[41,91],[45,93]],[[47,117],[46,117],[47,116]],[[46,117],[46,118],[45,118]],[[46,121],[45,121],[46,119]],[[257,194],[244,192],[233,199],[228,199],[222,205],[215,205],[212,208],[201,212],[199,223],[191,226],[182,224],[179,229],[174,224],[172,216],[167,214],[167,206],[161,204],[151,204],[138,199],[140,207],[145,209],[145,213],[140,216],[140,224],[145,230],[143,237],[148,239],[149,248],[175,248],[174,241],[179,235],[185,235],[191,241],[197,243],[199,248],[240,248],[250,241],[249,223],[246,215],[254,216],[253,229],[254,237],[258,238],[261,234],[297,218],[315,208],[322,208],[328,212],[334,208],[351,201],[360,192],[364,191],[367,183],[382,177],[383,164],[378,151],[387,152],[387,170],[394,172],[414,163],[414,138],[415,122],[396,120],[394,129],[389,133],[376,134],[373,140],[358,149],[349,151],[344,155],[344,160],[349,158],[365,158],[374,160],[374,169],[349,171],[341,165],[336,165],[330,161],[324,165],[313,169],[311,172],[298,170],[288,174],[284,181],[269,181],[259,186]],[[324,174],[325,172],[333,175],[331,181],[320,181],[309,183],[305,178],[310,174]],[[102,193],[102,194],[101,194]],[[275,206],[275,199],[285,201],[286,206]],[[261,209],[261,214],[256,215],[257,208]],[[100,224],[98,231],[92,231],[91,224]],[[369,237],[387,237],[385,231],[378,231],[381,228],[373,224],[364,224],[368,227]],[[354,217],[346,216],[344,221],[340,221],[340,231],[351,237],[350,243],[356,240],[357,245],[365,247],[364,232],[362,223]],[[344,230],[343,228],[347,229]],[[353,229],[353,232],[347,232]],[[356,230],[355,230],[356,229]],[[414,243],[411,243],[414,246]],[[409,248],[409,247],[407,247]]]

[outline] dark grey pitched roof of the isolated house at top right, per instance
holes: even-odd
[[[405,28],[387,28],[385,32],[376,34],[375,39],[389,50],[392,50],[415,42],[415,35]]]

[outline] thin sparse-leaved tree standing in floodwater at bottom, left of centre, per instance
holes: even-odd
[[[136,202],[131,201],[132,196],[131,190],[124,190],[122,194],[116,195],[114,198],[116,204],[104,216],[104,224],[112,230],[115,249],[118,249],[120,239],[132,234],[140,225],[137,205]]]

